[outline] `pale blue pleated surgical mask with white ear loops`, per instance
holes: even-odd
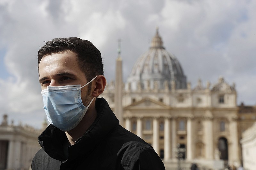
[[[95,78],[84,86],[90,84]],[[84,86],[48,86],[47,89],[42,90],[44,111],[50,123],[62,131],[69,131],[78,125],[94,100],[93,98],[87,107],[83,105],[81,88]]]

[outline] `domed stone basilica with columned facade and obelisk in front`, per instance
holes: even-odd
[[[103,94],[126,129],[151,144],[166,167],[183,164],[205,168],[239,165],[238,107],[235,85],[224,78],[192,88],[178,59],[165,50],[156,30],[151,46],[133,65],[123,83],[122,58],[116,60],[116,80]],[[221,164],[221,165],[217,165]]]

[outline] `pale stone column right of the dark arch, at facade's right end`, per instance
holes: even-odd
[[[228,143],[228,162],[234,164],[235,162],[241,165],[238,155],[238,130],[237,130],[237,117],[229,120],[230,141]],[[229,147],[230,146],[230,147]]]

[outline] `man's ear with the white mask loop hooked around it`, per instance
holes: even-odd
[[[105,86],[107,84],[107,80],[103,75],[99,75],[94,80],[94,85],[92,89],[92,96],[98,97],[101,93],[104,92]]]

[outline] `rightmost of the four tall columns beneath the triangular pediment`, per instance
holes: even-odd
[[[164,118],[164,160],[171,159],[171,123],[170,116]]]

